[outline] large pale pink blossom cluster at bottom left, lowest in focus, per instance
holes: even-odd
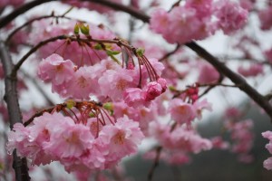
[[[85,172],[115,166],[122,157],[135,153],[144,138],[139,123],[127,117],[104,125],[98,135],[88,125],[45,112],[25,128],[15,124],[8,134],[7,150],[16,149],[19,157],[30,158],[34,165],[60,161],[68,172]]]

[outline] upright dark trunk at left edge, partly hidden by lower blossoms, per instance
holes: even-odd
[[[22,123],[22,114],[17,96],[16,77],[11,75],[14,65],[4,42],[0,42],[0,58],[5,71],[5,102],[8,110],[10,128],[13,129],[15,123]],[[16,151],[13,152],[13,157],[16,181],[30,180],[26,158],[24,157],[21,159],[20,157],[17,157]]]

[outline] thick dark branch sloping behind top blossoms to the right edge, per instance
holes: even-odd
[[[81,1],[89,1],[96,4],[105,5],[115,10],[131,14],[132,16],[140,19],[142,22],[145,22],[145,23],[150,22],[150,16],[142,13],[141,11],[133,7],[120,5],[118,3],[113,3],[108,0],[81,0]],[[267,112],[267,115],[270,117],[272,121],[272,106],[265,99],[265,97],[262,96],[260,93],[258,93],[257,90],[255,90],[253,87],[251,87],[246,80],[244,80],[236,72],[231,71],[225,64],[223,64],[222,62],[219,62],[217,58],[215,58],[212,54],[207,52],[204,48],[199,46],[198,43],[195,43],[192,41],[190,43],[185,43],[185,45],[189,47],[189,49],[191,49],[192,51],[198,53],[199,56],[205,59],[207,62],[212,64],[214,68],[216,68],[217,71],[219,71],[219,73],[222,73],[223,75],[228,77],[229,80],[231,80],[236,85],[238,85],[238,88],[240,90],[243,90],[245,93],[247,93],[248,97],[250,97],[252,100],[255,100],[255,102]]]

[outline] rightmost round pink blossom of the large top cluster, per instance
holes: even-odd
[[[248,11],[228,0],[219,0],[215,6],[215,15],[219,28],[226,34],[237,31],[248,21]]]

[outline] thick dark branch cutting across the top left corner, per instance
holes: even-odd
[[[35,6],[42,5],[44,3],[51,1],[56,0],[35,0],[16,8],[12,13],[7,14],[0,19],[0,29],[3,28],[6,24],[11,23],[17,16],[24,14],[28,10],[34,8]]]

